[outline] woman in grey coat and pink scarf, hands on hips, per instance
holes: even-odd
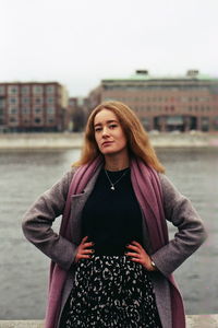
[[[128,106],[93,110],[80,162],[23,221],[25,236],[52,260],[46,328],[185,327],[172,272],[205,230],[164,171]],[[178,227],[170,242],[166,220]]]

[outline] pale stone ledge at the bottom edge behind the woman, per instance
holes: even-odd
[[[189,315],[186,328],[217,328],[218,315]],[[44,328],[43,320],[0,320],[0,328]]]

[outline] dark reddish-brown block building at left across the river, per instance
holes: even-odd
[[[68,93],[58,82],[0,83],[0,131],[63,131]]]

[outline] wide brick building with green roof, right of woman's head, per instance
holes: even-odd
[[[184,77],[153,77],[137,70],[129,79],[102,80],[88,99],[90,108],[109,99],[125,103],[148,131],[218,131],[218,79],[197,70]]]

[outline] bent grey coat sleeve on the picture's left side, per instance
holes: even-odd
[[[64,270],[70,269],[77,246],[55,233],[51,226],[63,213],[72,177],[73,169],[33,203],[22,222],[25,237]]]

